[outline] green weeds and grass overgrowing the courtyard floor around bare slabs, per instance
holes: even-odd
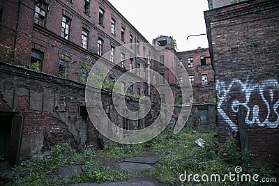
[[[209,130],[195,131],[184,128],[179,134],[173,134],[173,128],[168,126],[158,137],[144,144],[124,145],[112,141],[105,141],[105,150],[93,150],[91,148],[80,148],[75,150],[70,143],[53,146],[50,152],[31,155],[25,161],[26,166],[17,166],[29,172],[27,176],[17,177],[5,185],[64,185],[68,183],[103,182],[106,180],[119,180],[146,176],[156,178],[167,183],[167,185],[183,185],[179,176],[185,171],[189,174],[219,174],[224,176],[231,172],[235,173],[236,166],[241,166],[241,173],[259,175],[258,180],[263,177],[276,178],[278,171],[272,166],[261,162],[252,162],[250,153],[241,155],[234,138],[229,138],[223,146],[218,147],[215,139],[216,132]],[[204,146],[195,144],[195,140],[202,138]],[[148,153],[146,153],[146,149]],[[158,155],[158,162],[153,169],[141,172],[113,170],[98,166],[100,159],[116,160],[123,157],[140,155]],[[84,164],[85,171],[75,174],[70,178],[57,176],[59,167],[74,164]],[[92,166],[97,168],[92,169]],[[51,175],[56,176],[51,176]],[[193,176],[191,177],[193,178]],[[278,177],[277,177],[278,180]],[[194,182],[186,180],[185,185],[257,185],[254,182],[233,183],[226,179],[224,182]],[[0,184],[1,185],[1,184]],[[272,185],[272,183],[270,184]],[[276,184],[274,184],[276,185]]]

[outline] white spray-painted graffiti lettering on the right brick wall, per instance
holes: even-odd
[[[216,82],[218,114],[225,122],[238,131],[236,113],[243,105],[246,125],[276,128],[279,125],[279,84],[276,79],[255,83],[248,79],[241,82]]]

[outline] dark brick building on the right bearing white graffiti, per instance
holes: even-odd
[[[278,163],[279,1],[209,1],[209,8],[204,15],[220,141],[247,132],[241,141],[252,157]],[[239,127],[241,105],[246,129]]]

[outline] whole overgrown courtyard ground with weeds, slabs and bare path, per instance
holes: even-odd
[[[241,173],[257,173],[260,178],[278,180],[275,166],[252,162],[249,153],[241,156],[234,139],[220,146],[215,131],[185,128],[179,134],[173,134],[172,130],[172,127],[168,127],[158,137],[144,144],[124,145],[105,141],[104,150],[85,147],[74,149],[69,142],[59,144],[47,153],[30,155],[22,160],[20,166],[9,169],[10,173],[6,177],[5,171],[0,171],[0,185],[258,184],[252,181],[232,182],[229,179],[222,181],[226,173],[235,173],[236,166],[241,167]],[[197,144],[197,139],[202,139],[204,144]],[[187,176],[181,182],[179,177],[185,173]],[[188,177],[190,174],[192,177]],[[218,174],[221,180],[197,182],[193,179],[194,174]]]

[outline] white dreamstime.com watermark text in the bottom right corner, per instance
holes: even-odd
[[[185,182],[246,182],[246,183],[276,183],[276,178],[260,178],[259,174],[255,173],[253,175],[250,175],[249,173],[241,173],[242,167],[236,166],[234,169],[234,173],[229,172],[225,175],[220,175],[218,173],[208,175],[204,173],[202,176],[199,174],[188,174],[187,171],[182,173],[179,176],[179,180],[181,183]]]

